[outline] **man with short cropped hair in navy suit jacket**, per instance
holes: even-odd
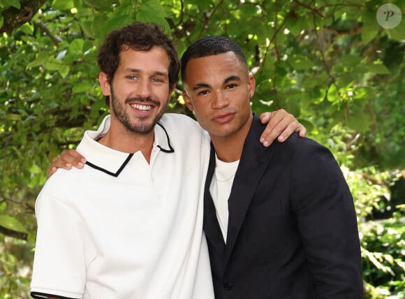
[[[260,144],[256,83],[230,39],[193,43],[181,72],[212,140],[203,227],[216,298],[362,298],[353,198],[331,152],[297,135]]]

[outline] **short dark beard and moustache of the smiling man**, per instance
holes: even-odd
[[[139,103],[152,103],[155,105],[155,108],[160,108],[161,102],[159,101],[154,101],[153,99],[147,97],[147,98],[128,98],[125,100],[126,103],[130,103],[131,101],[137,101]],[[126,112],[125,105],[123,105],[115,96],[114,90],[111,87],[111,102],[112,102],[112,111],[115,114],[115,117],[117,117],[118,121],[123,124],[128,131],[131,133],[136,133],[140,135],[147,135],[150,133],[155,125],[159,122],[159,119],[163,116],[163,114],[166,111],[166,108],[168,107],[168,103],[165,104],[165,107],[154,117],[152,122],[147,122],[147,119],[149,117],[138,117],[135,120],[131,121],[131,118],[128,115],[128,112]]]

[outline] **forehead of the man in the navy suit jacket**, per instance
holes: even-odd
[[[190,59],[186,66],[186,82],[211,80],[226,74],[248,73],[246,64],[234,52]]]

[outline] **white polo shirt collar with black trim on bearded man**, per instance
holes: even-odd
[[[137,153],[119,152],[116,149],[106,147],[96,140],[101,138],[110,129],[110,115],[104,117],[97,131],[86,131],[80,144],[78,152],[86,157],[87,165],[108,175],[117,177],[125,168],[132,156]],[[170,138],[162,124],[156,124],[154,128],[153,149],[161,150],[165,153],[175,152],[170,144]]]

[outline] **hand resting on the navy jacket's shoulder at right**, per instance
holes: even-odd
[[[267,121],[265,131],[260,136],[260,142],[265,147],[271,145],[276,138],[279,142],[283,142],[294,132],[302,137],[307,133],[307,129],[292,114],[283,109],[265,112],[260,115],[260,119],[263,123]]]

